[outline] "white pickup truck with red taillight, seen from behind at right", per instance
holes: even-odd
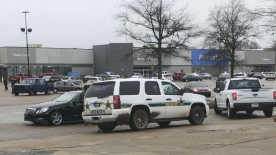
[[[232,78],[223,82],[220,90],[214,89],[214,110],[221,114],[227,110],[228,118],[235,117],[236,112],[246,111],[252,114],[255,110],[262,110],[266,117],[271,117],[276,106],[276,92],[274,88],[263,88],[257,78]]]

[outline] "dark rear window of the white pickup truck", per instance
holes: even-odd
[[[228,89],[252,89],[261,88],[258,80],[232,80],[229,83]]]

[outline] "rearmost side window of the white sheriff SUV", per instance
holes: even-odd
[[[139,92],[139,81],[120,82],[120,95],[139,95]]]

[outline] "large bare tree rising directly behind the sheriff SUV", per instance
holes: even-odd
[[[119,35],[126,35],[140,43],[147,44],[133,50],[125,57],[136,51],[146,57],[158,59],[158,78],[161,79],[162,57],[181,57],[189,61],[189,57],[179,53],[178,49],[186,48],[190,38],[199,35],[197,25],[193,23],[187,8],[175,10],[174,0],[128,0],[121,3],[124,11],[116,15],[116,19],[126,22],[125,28],[118,28]]]

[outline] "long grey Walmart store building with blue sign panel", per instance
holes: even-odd
[[[29,61],[32,75],[44,72],[58,72],[67,75],[68,72],[79,72],[80,78],[85,75],[114,72],[129,77],[133,73],[151,76],[157,73],[157,59],[144,57],[140,50],[128,58],[125,55],[137,50],[132,43],[109,43],[94,45],[93,49],[77,48],[44,48],[29,47]],[[181,58],[163,58],[162,70],[173,72],[206,72],[219,74],[218,55],[210,55],[208,50],[183,49],[180,54],[186,55],[191,61]],[[235,72],[250,72],[253,69],[275,71],[275,51],[236,51],[243,65],[236,66]],[[151,66],[154,69],[151,70]],[[222,63],[221,71],[229,71],[229,65]],[[28,73],[26,47],[0,47],[0,75],[11,76]]]

